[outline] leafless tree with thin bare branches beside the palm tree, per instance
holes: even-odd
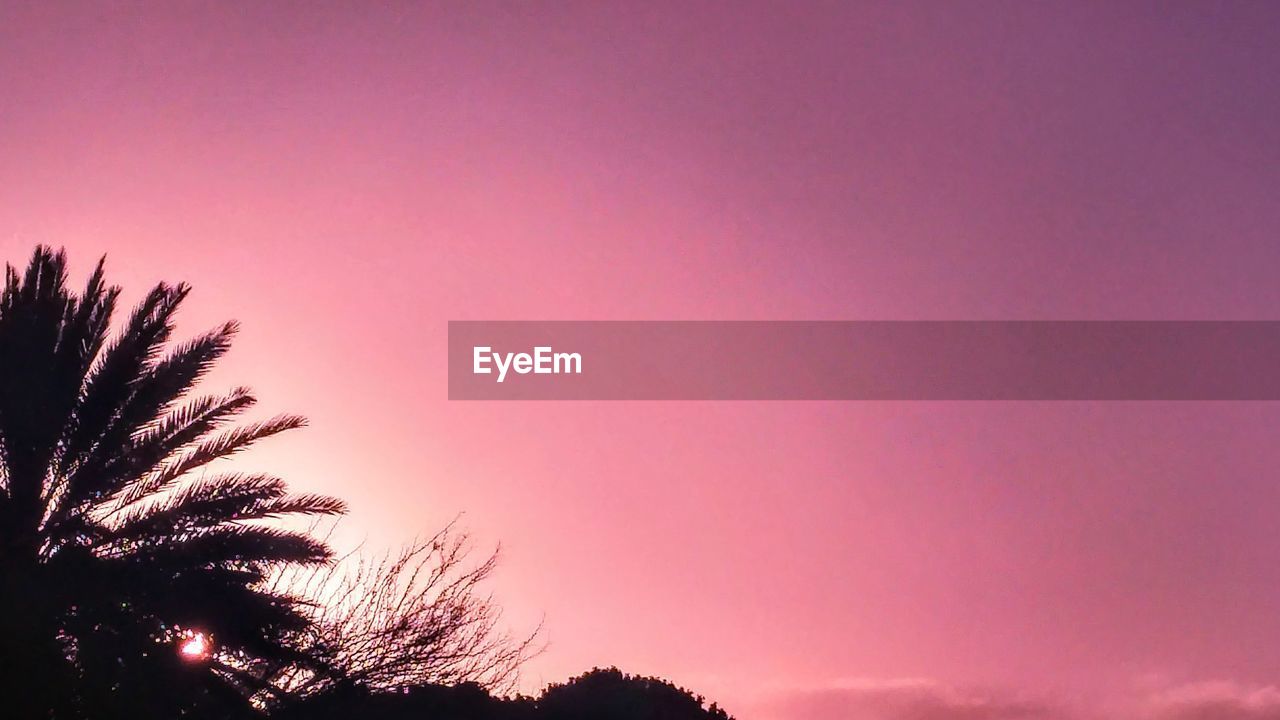
[[[357,551],[280,573],[275,587],[312,601],[297,644],[323,661],[282,667],[279,697],[461,683],[513,689],[520,666],[540,651],[540,628],[521,635],[499,628],[502,611],[484,589],[498,551],[472,561],[474,551],[454,520],[398,553]]]

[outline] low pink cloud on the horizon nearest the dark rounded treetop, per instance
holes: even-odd
[[[762,715],[772,720],[1066,719],[1043,702],[922,679],[851,680],[792,691],[768,703]]]

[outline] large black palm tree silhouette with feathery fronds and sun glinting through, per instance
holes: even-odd
[[[330,556],[264,520],[344,507],[207,469],[303,419],[232,425],[247,389],[193,393],[236,324],[172,345],[186,284],[157,284],[109,337],[120,291],[102,266],[78,296],[61,251],[6,266],[0,703],[19,719],[247,714],[262,667],[300,660],[291,635],[306,624],[264,580]]]

